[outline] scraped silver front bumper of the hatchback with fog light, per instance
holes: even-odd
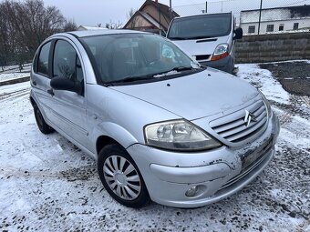
[[[197,153],[164,151],[140,144],[128,147],[139,166],[150,198],[171,207],[202,207],[229,197],[257,177],[274,157],[279,123],[273,115],[262,136],[238,149],[222,146]],[[246,151],[252,150],[249,155]],[[243,166],[244,156],[255,156]],[[186,191],[198,187],[195,197]]]

